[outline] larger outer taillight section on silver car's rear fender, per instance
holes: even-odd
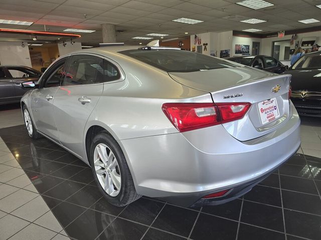
[[[164,103],[162,108],[181,132],[221,123],[213,103]]]

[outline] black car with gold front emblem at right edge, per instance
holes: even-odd
[[[284,73],[292,75],[291,100],[297,112],[321,116],[321,51],[302,55]]]

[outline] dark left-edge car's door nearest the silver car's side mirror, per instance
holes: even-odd
[[[12,75],[12,83],[14,86],[15,100],[19,101],[21,97],[29,91],[21,87],[21,82],[37,81],[40,77],[39,73],[28,70],[22,66],[8,66],[7,70]]]

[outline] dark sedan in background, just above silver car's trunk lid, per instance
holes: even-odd
[[[226,59],[273,73],[282,73],[288,68],[288,65],[284,65],[274,57],[265,55],[233,56]]]

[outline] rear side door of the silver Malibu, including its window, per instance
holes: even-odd
[[[59,140],[82,157],[85,124],[103,91],[104,59],[94,54],[71,56],[62,86],[54,100]]]

